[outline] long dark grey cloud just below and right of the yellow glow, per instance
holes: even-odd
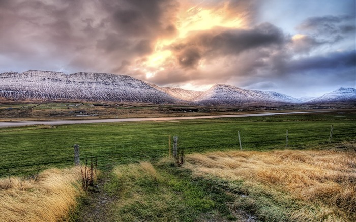
[[[202,58],[238,55],[246,50],[278,47],[288,41],[276,26],[263,23],[252,29],[226,29],[200,31],[171,46],[184,68],[195,68]]]

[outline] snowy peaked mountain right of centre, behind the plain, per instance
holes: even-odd
[[[302,103],[302,101],[270,91],[247,90],[231,85],[215,84],[192,99],[199,105],[271,105]]]

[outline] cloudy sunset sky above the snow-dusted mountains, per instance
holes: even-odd
[[[356,0],[0,0],[0,46],[1,72],[321,96],[356,87]]]

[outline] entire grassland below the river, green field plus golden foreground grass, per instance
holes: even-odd
[[[1,128],[0,135],[5,221],[356,218],[356,112],[35,125]],[[186,153],[183,167],[167,158],[168,135],[179,136]],[[98,158],[102,173],[94,193],[81,191],[78,168],[45,170],[72,167],[76,143],[81,161]],[[14,176],[40,171],[35,178]]]

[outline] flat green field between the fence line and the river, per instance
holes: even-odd
[[[332,124],[333,142],[356,138],[355,113],[2,128],[0,177],[73,165],[74,144],[80,145],[81,160],[98,157],[105,170],[167,156],[168,135],[179,136],[179,147],[193,153],[238,149],[239,130],[243,149],[270,150],[285,148],[288,130],[288,147],[306,149],[327,144]]]

